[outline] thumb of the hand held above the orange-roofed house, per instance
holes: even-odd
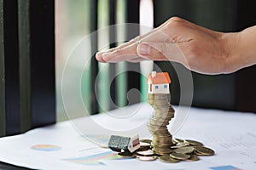
[[[183,54],[176,43],[143,42],[137,46],[137,55],[145,59],[177,61]]]

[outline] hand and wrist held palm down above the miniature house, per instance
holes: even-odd
[[[172,17],[147,34],[96,54],[101,62],[145,59],[181,63],[203,74],[226,74],[256,64],[256,26],[218,32]]]

